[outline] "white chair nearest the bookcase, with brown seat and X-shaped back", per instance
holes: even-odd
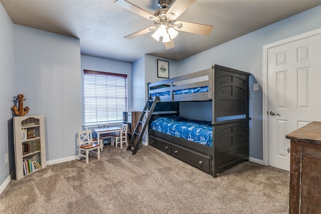
[[[88,163],[89,152],[90,152],[90,156],[92,156],[92,152],[97,153],[97,159],[100,159],[100,144],[92,142],[91,129],[78,131],[78,143],[79,143],[78,160],[80,160],[81,157],[85,157],[86,163]]]

